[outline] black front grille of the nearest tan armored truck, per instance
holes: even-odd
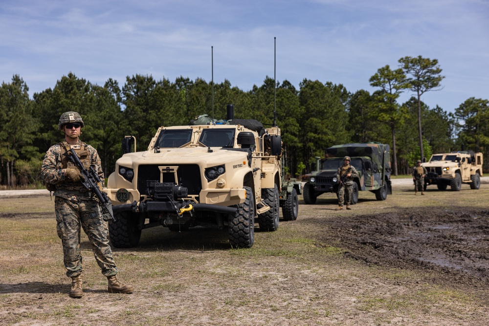
[[[146,194],[146,181],[156,180],[159,182],[160,172],[158,166],[161,165],[163,164],[139,166],[137,169],[137,191],[139,191],[139,194],[148,195]],[[200,190],[202,190],[202,183],[200,181],[200,170],[197,164],[178,165],[177,177],[178,184],[188,189],[188,195],[199,196]],[[175,183],[175,174],[173,172],[163,173],[162,182]]]

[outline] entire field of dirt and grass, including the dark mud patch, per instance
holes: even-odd
[[[393,180],[385,201],[360,192],[338,212],[326,194],[276,232],[256,226],[251,249],[214,229],[143,230],[113,250],[130,295],[107,293],[83,237],[81,299],[49,195],[0,197],[0,325],[489,325],[488,196]]]

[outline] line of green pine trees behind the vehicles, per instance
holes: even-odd
[[[212,85],[201,78],[171,82],[138,74],[127,76],[121,88],[112,79],[98,86],[70,72],[32,99],[22,77],[14,75],[0,87],[0,186],[41,184],[44,153],[62,141],[58,121],[66,111],[82,115],[81,139],[97,149],[106,176],[122,154],[125,135],[135,136],[138,150],[144,150],[158,127],[188,125],[201,114],[225,119],[228,104],[234,105],[235,118],[256,119],[265,127],[272,125],[276,109],[290,176],[309,172],[326,148],[350,142],[389,144],[395,175],[409,174],[417,159],[435,152],[472,150],[488,157],[487,99],[469,98],[453,113],[422,102],[426,91],[442,90],[441,72],[436,59],[404,57],[397,69],[386,65],[370,78],[377,88],[373,93],[309,79],[297,89],[268,76],[249,91],[228,80]],[[405,91],[415,96],[399,103]]]

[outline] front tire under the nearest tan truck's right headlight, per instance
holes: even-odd
[[[251,248],[255,242],[255,199],[249,187],[246,190],[246,199],[237,205],[236,215],[229,216],[229,243],[235,248]]]

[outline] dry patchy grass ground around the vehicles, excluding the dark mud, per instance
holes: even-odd
[[[405,186],[381,202],[362,192],[352,211],[335,212],[333,195],[323,195],[316,205],[301,200],[296,221],[257,232],[251,249],[230,249],[219,230],[144,230],[138,247],[114,250],[121,279],[135,287],[131,295],[106,293],[83,234],[86,294],[79,300],[67,296],[54,201],[1,198],[0,325],[488,325],[481,289],[426,282],[429,270],[357,261],[341,244],[321,240],[338,216],[413,205],[486,209],[488,196],[485,185],[425,196]]]

